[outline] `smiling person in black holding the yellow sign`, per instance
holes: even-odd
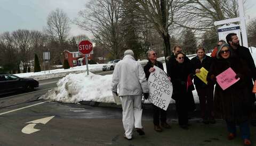
[[[202,47],[196,49],[197,56],[191,59],[193,65],[194,84],[196,86],[197,95],[200,102],[201,117],[204,124],[214,124],[213,114],[213,89],[214,85],[205,83],[200,80],[195,74],[200,73],[202,67],[209,71],[212,64],[212,57],[205,55],[205,50]],[[207,102],[206,102],[207,101]]]

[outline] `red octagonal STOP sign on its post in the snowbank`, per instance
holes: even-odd
[[[82,40],[78,44],[79,53],[85,55],[87,75],[89,75],[88,58],[87,55],[92,51],[92,43],[89,40]]]

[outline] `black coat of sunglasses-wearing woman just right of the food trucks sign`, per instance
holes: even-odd
[[[195,101],[193,97],[192,90],[194,90],[194,86],[189,88],[187,91],[187,79],[188,75],[192,73],[191,61],[184,61],[182,64],[177,61],[173,62],[170,67],[170,77],[173,85],[173,95],[172,99],[175,101],[186,101],[185,107],[187,107],[188,111],[195,110]]]

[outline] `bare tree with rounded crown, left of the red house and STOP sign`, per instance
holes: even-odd
[[[67,38],[69,31],[69,18],[68,15],[61,9],[56,8],[47,17],[47,32],[59,40],[60,43],[60,59],[63,60],[62,53],[64,51],[64,42]]]

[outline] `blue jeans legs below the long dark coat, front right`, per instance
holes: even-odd
[[[235,123],[230,123],[227,122],[227,128],[228,128],[228,132],[236,134],[236,124]],[[240,128],[240,132],[242,135],[242,139],[250,139],[250,128],[249,128],[249,123],[248,121],[238,124],[239,128]]]

